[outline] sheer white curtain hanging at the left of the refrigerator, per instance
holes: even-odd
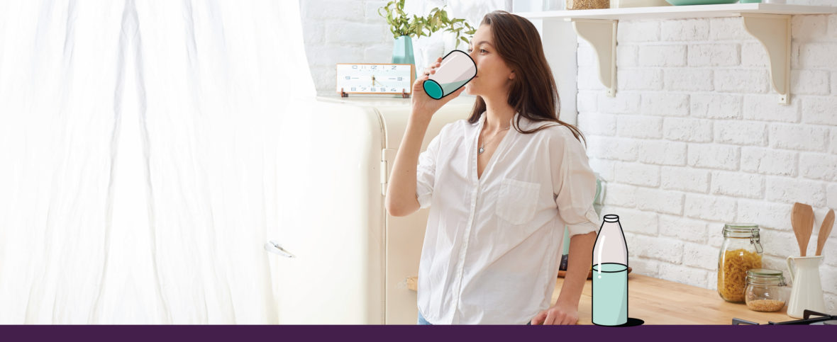
[[[0,0],[0,324],[279,323],[315,94],[296,1]]]

